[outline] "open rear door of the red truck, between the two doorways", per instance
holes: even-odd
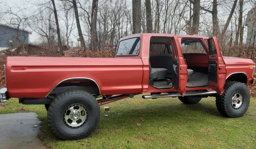
[[[174,88],[184,96],[186,93],[186,84],[188,81],[188,71],[187,64],[185,59],[183,58],[183,54],[181,51],[180,43],[177,35],[174,35],[172,38],[172,42],[174,45],[175,53],[173,55],[173,83]]]

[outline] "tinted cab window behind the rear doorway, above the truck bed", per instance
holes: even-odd
[[[116,51],[116,56],[139,55],[140,43],[141,43],[140,37],[125,39],[120,41]]]

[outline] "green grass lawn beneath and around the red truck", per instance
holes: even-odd
[[[251,98],[247,113],[240,118],[220,115],[215,98],[185,105],[178,98],[153,100],[137,95],[107,106],[111,113],[100,108],[101,118],[94,133],[75,141],[62,141],[51,133],[42,105],[21,105],[12,98],[0,109],[0,114],[36,112],[42,121],[38,137],[52,148],[256,148],[255,98]],[[16,111],[16,108],[27,110]]]

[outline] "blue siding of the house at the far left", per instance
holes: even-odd
[[[10,40],[13,42],[10,43]],[[23,43],[29,43],[29,32],[19,30],[19,40]],[[0,25],[0,48],[9,48],[19,44],[16,39],[16,29]]]

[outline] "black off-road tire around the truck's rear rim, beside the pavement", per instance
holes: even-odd
[[[65,122],[65,111],[74,105],[86,109],[86,121],[81,126],[71,127]],[[63,140],[77,140],[90,135],[97,127],[100,109],[97,100],[83,90],[67,91],[54,99],[48,109],[48,125],[52,132]]]

